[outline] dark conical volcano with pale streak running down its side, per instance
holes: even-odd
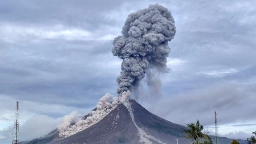
[[[62,138],[55,129],[24,144],[170,144],[176,143],[176,139],[180,144],[191,143],[184,137],[186,127],[150,113],[133,99],[129,102],[132,111],[120,103],[99,122],[75,135]]]

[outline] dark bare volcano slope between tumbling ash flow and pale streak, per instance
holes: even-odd
[[[127,108],[119,104],[112,112],[95,125],[67,138],[52,141],[49,144],[90,143],[115,144],[139,139],[136,127],[131,122]]]

